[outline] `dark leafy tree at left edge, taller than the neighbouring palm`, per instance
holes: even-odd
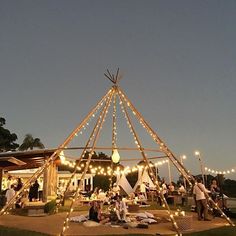
[[[0,117],[0,152],[14,151],[19,147],[19,144],[15,143],[17,135],[5,129],[5,124],[6,120]]]

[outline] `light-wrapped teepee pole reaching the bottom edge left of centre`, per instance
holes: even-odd
[[[88,160],[87,160],[87,162],[86,162],[86,166],[85,166],[85,169],[84,169],[84,171],[83,171],[83,174],[82,174],[82,176],[81,176],[81,178],[80,178],[80,183],[79,183],[79,185],[77,186],[76,191],[75,191],[75,194],[74,194],[74,196],[73,196],[73,200],[72,200],[72,202],[71,202],[69,212],[67,212],[66,218],[65,218],[65,220],[64,220],[63,228],[62,228],[62,231],[61,231],[61,235],[64,235],[66,229],[68,229],[68,227],[69,227],[69,218],[70,218],[71,213],[73,212],[74,203],[75,203],[76,199],[77,199],[78,196],[79,196],[79,191],[81,190],[81,187],[82,187],[82,184],[83,184],[85,175],[86,175],[86,173],[87,173],[87,171],[88,171],[88,168],[89,168],[89,165],[90,165],[90,162],[91,162],[91,159],[92,159],[92,155],[93,155],[93,152],[94,152],[94,147],[95,147],[95,145],[96,145],[96,142],[97,142],[97,140],[98,140],[98,137],[99,137],[100,131],[101,131],[101,129],[102,129],[103,123],[104,123],[104,121],[105,121],[105,118],[106,118],[108,109],[109,109],[110,104],[111,104],[111,100],[112,100],[113,94],[114,94],[114,91],[112,90],[111,95],[110,95],[110,97],[109,97],[109,99],[108,99],[108,101],[107,101],[107,103],[106,103],[106,105],[105,105],[105,107],[104,107],[103,112],[102,112],[102,115],[100,115],[100,122],[99,122],[98,125],[95,126],[95,127],[96,127],[96,133],[95,133],[95,136],[94,136],[94,141],[93,141],[93,144],[92,144],[91,149],[89,150],[89,157],[88,157]]]

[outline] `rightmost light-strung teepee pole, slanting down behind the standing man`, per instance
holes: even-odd
[[[141,116],[141,114],[137,111],[137,109],[133,106],[131,101],[127,98],[127,96],[119,89],[119,95],[120,97],[124,98],[126,103],[129,104],[129,107],[133,111],[134,114],[137,115],[139,121],[144,125],[144,127],[147,129],[153,140],[158,144],[161,145],[163,148],[163,152],[168,156],[169,160],[176,166],[176,168],[179,170],[179,172],[184,176],[184,178],[189,182],[190,185],[192,182],[195,182],[194,177],[189,174],[186,170],[186,168],[180,163],[180,161],[174,156],[174,154],[170,151],[170,149],[164,144],[164,142],[159,138],[159,136],[151,129],[151,127],[148,125],[148,123],[144,120],[144,118]],[[150,167],[150,166],[149,166]],[[149,168],[148,167],[148,168]],[[149,168],[151,169],[151,168]],[[189,180],[190,179],[190,180]],[[212,203],[215,209],[217,209],[221,215],[225,218],[225,220],[232,226],[235,226],[235,224],[230,220],[229,217],[226,216],[226,214],[222,211],[222,209],[212,200],[212,198],[206,193],[206,196],[208,197],[209,201]]]

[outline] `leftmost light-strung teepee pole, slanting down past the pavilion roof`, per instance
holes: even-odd
[[[81,130],[81,128],[87,123],[90,117],[95,113],[95,111],[101,106],[106,97],[111,93],[111,89],[104,95],[101,100],[95,105],[95,107],[90,111],[90,113],[83,119],[83,121],[71,132],[67,139],[57,148],[57,150],[45,161],[44,165],[38,168],[38,170],[25,182],[22,188],[16,192],[12,199],[2,208],[0,211],[0,216],[6,214],[8,209],[11,210],[12,205],[14,205],[17,200],[21,197],[24,191],[29,188],[30,184],[33,183],[38,177],[43,173],[43,171],[49,167],[50,163],[54,161],[59,153],[66,149],[66,145],[73,139],[75,134]]]

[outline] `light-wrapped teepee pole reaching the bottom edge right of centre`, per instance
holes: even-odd
[[[149,161],[148,161],[148,159],[147,159],[147,155],[146,155],[146,153],[143,151],[141,141],[140,141],[140,139],[139,139],[139,137],[138,137],[138,135],[137,135],[137,133],[136,133],[136,131],[135,131],[135,129],[134,129],[134,126],[133,126],[133,124],[132,124],[132,122],[131,122],[131,119],[130,119],[130,116],[129,116],[129,114],[128,114],[126,105],[125,105],[125,103],[124,103],[124,99],[122,98],[122,96],[120,96],[120,94],[119,94],[119,98],[120,98],[120,100],[121,100],[121,102],[122,102],[121,106],[122,106],[122,108],[123,108],[122,110],[123,110],[124,113],[125,113],[125,117],[126,117],[126,119],[127,119],[128,126],[130,127],[130,130],[131,130],[131,132],[132,132],[132,134],[133,134],[133,136],[134,136],[135,143],[137,144],[137,147],[138,147],[139,150],[140,150],[140,153],[141,153],[141,155],[142,155],[142,157],[143,157],[143,161],[146,163],[148,169],[151,171],[151,177],[154,179],[154,183],[155,183],[156,189],[157,189],[157,191],[159,192],[159,195],[160,195],[160,197],[161,197],[162,202],[164,203],[165,208],[167,209],[167,213],[169,214],[169,217],[170,217],[170,220],[171,220],[171,222],[172,222],[173,227],[175,228],[177,234],[178,234],[178,235],[181,235],[181,233],[180,233],[180,231],[179,231],[179,227],[178,227],[178,225],[177,225],[177,223],[176,223],[176,221],[175,221],[175,219],[174,219],[174,217],[173,217],[173,214],[171,214],[169,205],[168,205],[168,203],[167,203],[167,201],[166,201],[166,199],[165,199],[165,197],[164,197],[164,195],[163,195],[163,192],[161,191],[161,188],[160,188],[160,186],[159,186],[159,182],[157,181],[156,176],[154,175],[154,173],[153,173],[153,171],[152,171],[152,169],[151,169],[151,167],[150,167]]]

